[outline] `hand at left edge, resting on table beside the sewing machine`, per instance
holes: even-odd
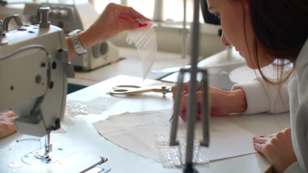
[[[16,131],[15,119],[16,114],[11,110],[0,112],[0,138],[11,135]]]

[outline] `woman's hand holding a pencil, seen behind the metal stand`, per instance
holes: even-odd
[[[188,82],[183,85],[183,93],[181,98],[180,116],[186,120],[186,107],[188,102],[187,90]],[[172,93],[175,95],[176,86],[172,88]],[[202,91],[197,93],[197,119],[201,119],[201,106],[202,106]],[[225,116],[230,113],[244,112],[247,109],[246,96],[243,90],[224,91],[213,86],[209,86],[209,97],[211,106],[211,115]]]

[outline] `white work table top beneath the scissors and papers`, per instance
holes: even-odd
[[[105,96],[114,85],[137,84],[140,81],[140,78],[121,75],[69,94],[67,98],[70,100],[87,101]],[[104,165],[111,168],[110,172],[182,172],[180,169],[163,168],[160,162],[145,158],[109,142],[100,136],[92,125],[93,122],[106,118],[106,115],[120,114],[127,111],[137,112],[165,109],[171,108],[172,104],[171,93],[168,93],[166,97],[163,97],[161,93],[146,93],[137,96],[122,97],[120,102],[105,111],[102,115],[90,114],[87,116],[76,116],[76,124],[69,126],[66,133],[52,133],[51,141],[53,145],[58,145],[62,148],[106,157],[108,161]],[[272,134],[289,126],[288,113],[277,115],[229,115],[225,119],[255,135]],[[0,149],[16,143],[15,141],[21,138],[29,137],[15,133],[0,140]],[[241,141],[236,144],[225,145],[241,145]],[[5,159],[4,156],[0,157],[1,159]],[[249,154],[199,165],[197,169],[199,172],[264,172],[270,167],[271,165],[262,154]]]

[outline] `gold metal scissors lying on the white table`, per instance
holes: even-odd
[[[110,90],[112,95],[136,95],[147,92],[166,93],[171,92],[171,86],[153,85],[153,86],[137,86],[137,85],[118,85]]]

